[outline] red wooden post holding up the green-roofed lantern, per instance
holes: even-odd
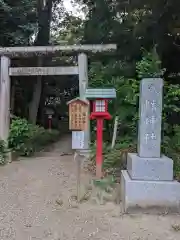
[[[103,118],[97,118],[96,177],[102,177],[103,164]]]

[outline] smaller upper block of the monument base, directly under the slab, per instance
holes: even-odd
[[[161,158],[140,158],[137,153],[128,153],[127,170],[133,180],[173,180],[173,160],[164,155]]]

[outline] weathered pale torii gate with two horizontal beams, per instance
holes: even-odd
[[[10,94],[11,76],[30,75],[79,75],[80,98],[85,99],[85,91],[88,87],[88,52],[115,51],[116,44],[104,45],[65,45],[65,46],[28,46],[0,48],[0,139],[7,141],[10,125]],[[70,67],[11,67],[11,58],[28,57],[31,55],[44,56],[47,54],[76,53],[78,55],[77,66]],[[89,149],[90,130],[85,131],[84,149]]]

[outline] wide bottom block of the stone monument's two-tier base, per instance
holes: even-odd
[[[121,175],[121,200],[125,212],[162,210],[179,212],[180,183],[177,181],[132,180],[127,171]]]

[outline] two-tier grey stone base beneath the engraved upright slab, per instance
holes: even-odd
[[[132,155],[130,154],[128,163],[133,160],[130,160]],[[155,161],[150,165],[147,163],[148,159],[139,163],[137,159],[134,163],[132,162],[132,165],[129,163],[129,170],[121,172],[121,200],[124,212],[152,212],[152,210],[180,212],[180,183],[172,180],[172,160],[167,158],[166,161],[165,159],[165,156],[159,160],[149,159],[149,161]],[[165,163],[163,163],[164,160]],[[160,166],[158,168],[161,163],[164,165],[162,171]],[[152,165],[154,167],[157,165],[157,169]],[[138,177],[139,171],[141,174]]]

